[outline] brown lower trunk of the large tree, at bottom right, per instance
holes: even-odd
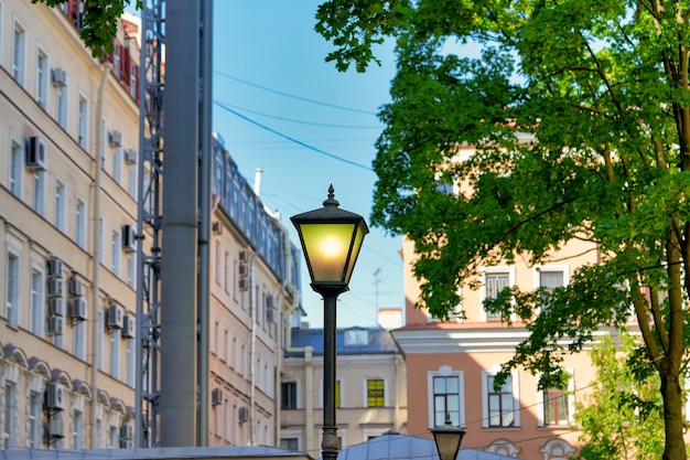
[[[686,441],[682,437],[682,397],[678,372],[673,368],[675,366],[664,367],[664,372],[660,373],[666,425],[664,460],[686,460]]]

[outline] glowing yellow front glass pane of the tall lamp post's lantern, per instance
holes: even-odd
[[[343,281],[355,224],[302,224],[312,281]]]

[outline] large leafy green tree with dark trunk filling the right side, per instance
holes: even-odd
[[[371,222],[414,243],[419,304],[445,318],[481,266],[595,244],[601,264],[569,286],[513,288],[487,306],[530,332],[504,368],[557,386],[564,353],[634,317],[660,379],[666,460],[686,456],[689,17],[687,2],[661,0],[328,0],[316,13],[339,69],[364,71],[396,40]],[[462,145],[477,150],[459,162]]]

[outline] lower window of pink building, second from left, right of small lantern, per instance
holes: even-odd
[[[485,428],[519,427],[517,375],[513,373],[498,388],[494,387],[496,372],[483,372],[483,405]]]

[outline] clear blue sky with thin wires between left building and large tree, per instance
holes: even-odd
[[[382,66],[365,74],[325,63],[332,47],[314,31],[317,6],[214,3],[214,130],[250,183],[262,170],[261,201],[281,213],[298,245],[290,216],[321,207],[331,183],[342,208],[369,221],[374,142],[382,129],[376,113],[389,100],[395,71],[392,46],[380,49]],[[338,327],[375,325],[377,306],[405,307],[401,239],[370,231],[351,290],[339,297]],[[306,321],[322,327],[323,302],[302,271]]]

